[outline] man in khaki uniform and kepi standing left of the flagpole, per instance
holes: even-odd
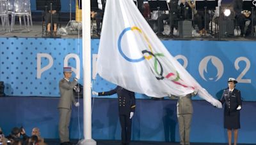
[[[60,80],[60,102],[58,109],[60,111],[60,122],[59,122],[59,135],[61,144],[71,144],[69,141],[69,123],[71,116],[72,103],[78,107],[79,102],[76,102],[76,99],[73,95],[73,89],[76,88],[77,78],[74,78],[74,81],[70,81],[72,76],[71,67],[63,68],[64,78]]]

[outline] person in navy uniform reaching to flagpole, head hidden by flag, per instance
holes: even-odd
[[[132,126],[132,116],[135,111],[135,96],[134,92],[126,90],[121,86],[116,86],[114,90],[108,92],[92,92],[93,95],[113,95],[117,93],[118,95],[118,111],[119,120],[122,129],[122,145],[129,145],[131,142],[131,126]]]

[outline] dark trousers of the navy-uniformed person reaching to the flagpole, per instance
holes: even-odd
[[[122,132],[122,144],[128,145],[131,142],[132,120],[130,120],[129,114],[119,114],[119,120]]]

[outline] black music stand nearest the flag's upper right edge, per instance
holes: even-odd
[[[160,11],[170,11],[169,5],[166,0],[148,0],[149,8],[151,11],[158,11],[157,25],[158,32],[160,30]],[[172,28],[171,28],[172,29]]]

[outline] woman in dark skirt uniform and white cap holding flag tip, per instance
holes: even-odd
[[[241,92],[235,88],[236,79],[228,79],[228,88],[224,90],[221,103],[225,103],[224,128],[228,130],[228,145],[231,145],[232,130],[234,130],[234,145],[237,143],[238,129],[240,128],[240,110],[242,106]]]

